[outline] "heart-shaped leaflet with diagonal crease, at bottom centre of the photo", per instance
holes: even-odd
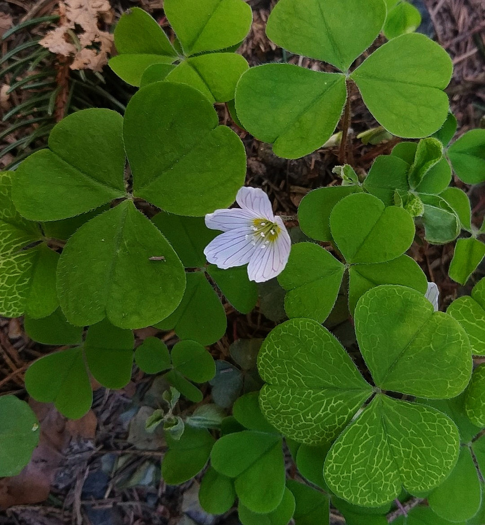
[[[243,430],[218,439],[210,463],[220,474],[235,478],[240,503],[253,512],[268,513],[283,499],[286,475],[281,446],[279,436]]]

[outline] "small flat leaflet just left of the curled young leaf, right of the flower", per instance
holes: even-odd
[[[396,155],[379,155],[364,181],[364,188],[386,206],[394,204],[395,190],[407,192],[409,164]]]

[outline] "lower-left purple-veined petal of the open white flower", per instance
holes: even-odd
[[[204,249],[207,261],[222,269],[247,264],[255,250],[251,233],[238,228],[218,235]]]

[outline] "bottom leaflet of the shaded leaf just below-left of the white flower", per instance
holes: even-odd
[[[182,302],[155,327],[173,329],[181,339],[192,339],[204,345],[223,337],[227,328],[226,313],[203,272],[187,274],[187,288]]]

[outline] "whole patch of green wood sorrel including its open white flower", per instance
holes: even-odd
[[[473,224],[467,194],[449,187],[452,172],[485,181],[485,131],[449,145],[448,55],[409,32],[416,12],[405,2],[280,0],[269,38],[336,72],[248,69],[233,53],[251,20],[242,0],[164,7],[172,40],[136,8],[115,29],[110,65],[141,86],[124,117],[72,114],[48,149],[0,177],[0,313],[24,315],[41,343],[70,347],[30,366],[27,391],[77,418],[91,406],[89,374],[121,388],[133,359],[163,373],[171,387],[146,426],[165,429],[165,481],[203,471],[201,505],[222,514],[237,498],[243,525],[322,525],[330,502],[351,525],[483,523],[485,369],[472,372],[472,357],[485,355],[485,279],[436,311],[406,255],[416,223],[435,244],[464,232],[449,269],[457,282],[485,255],[485,226]],[[389,41],[352,68],[381,31]],[[352,82],[388,133],[420,139],[377,156],[365,177],[345,164]],[[240,190],[244,148],[212,106],[226,101],[247,131],[291,159],[328,140],[343,112],[342,185],[303,198],[307,241],[289,258],[266,197]],[[242,209],[225,210],[236,195]],[[254,281],[275,275],[289,319],[214,362],[205,347],[227,327],[214,287],[247,313]],[[328,328],[349,318],[355,338],[343,345]],[[133,352],[132,329],[147,325],[180,341],[168,349],[147,338]],[[204,400],[196,384],[207,381]],[[180,394],[205,403],[182,411]],[[37,424],[13,396],[0,409],[0,474],[12,475],[36,446]]]

